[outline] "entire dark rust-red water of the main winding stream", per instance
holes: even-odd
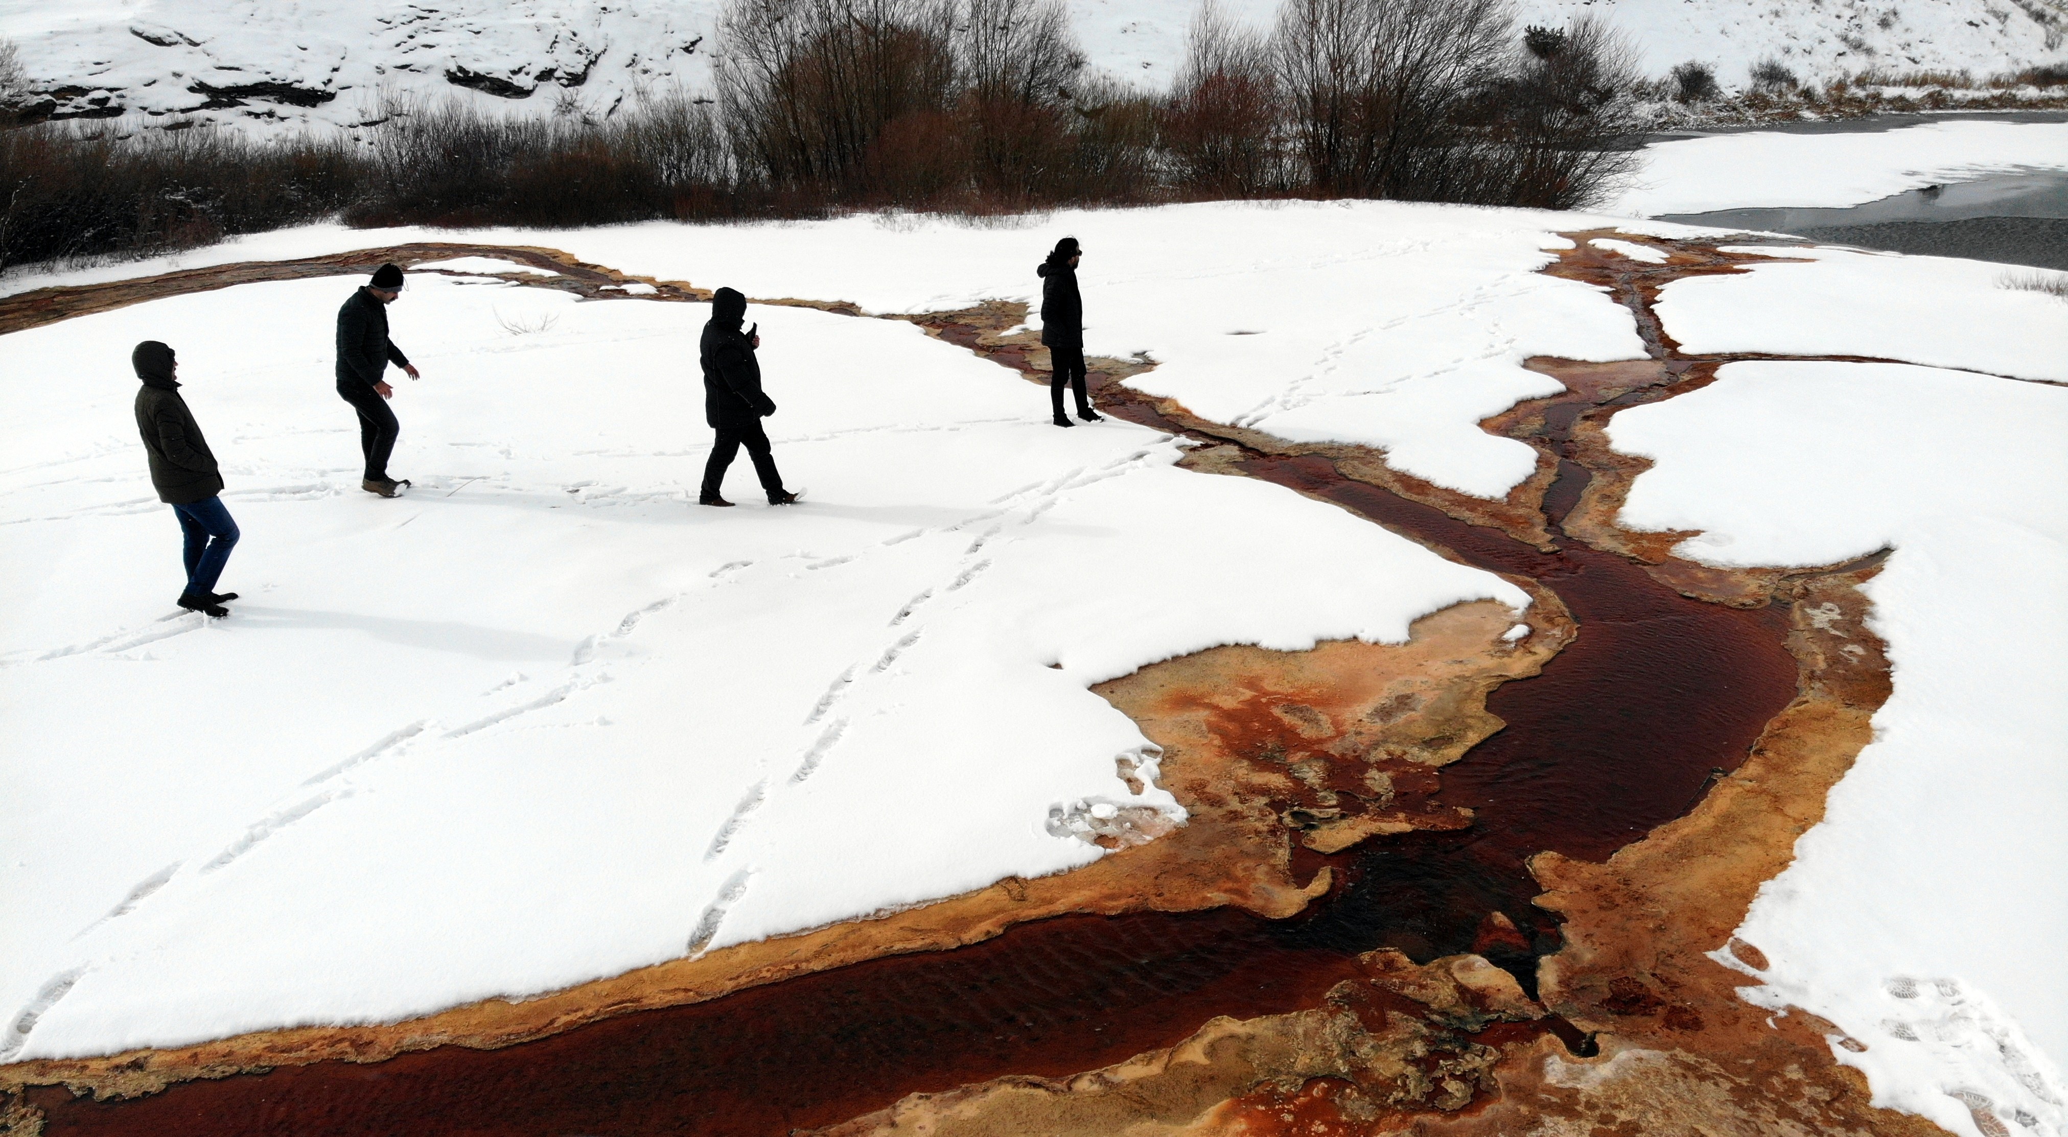
[[[1168,428],[1142,403],[1106,409]],[[1495,690],[1489,707],[1508,728],[1441,771],[1439,800],[1474,808],[1470,829],[1334,858],[1346,885],[1286,922],[1239,912],[1059,918],[507,1050],[321,1063],[112,1104],[37,1089],[45,1133],[773,1135],[912,1092],[1096,1069],[1168,1046],[1214,1015],[1311,1007],[1375,947],[1417,959],[1479,949],[1534,988],[1532,961],[1555,951],[1557,924],[1528,903],[1537,889],[1524,858],[1605,858],[1685,812],[1712,769],[1735,767],[1795,693],[1783,614],[1679,597],[1572,542],[1539,552],[1344,480],[1319,457],[1245,467],[1472,564],[1539,579],[1572,608],[1578,641],[1541,676]],[[1565,473],[1551,490],[1553,519],[1584,478],[1576,465]],[[1489,936],[1493,912],[1520,934]]]

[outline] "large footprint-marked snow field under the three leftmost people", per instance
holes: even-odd
[[[742,455],[742,504],[697,509],[703,306],[434,275],[391,310],[424,380],[391,376],[416,488],[381,500],[331,380],[354,283],[0,339],[0,1061],[391,1021],[1065,870],[1102,856],[1071,819],[1181,815],[1117,775],[1156,752],[1092,682],[1526,604],[798,308],[751,318],[807,502],[761,506]],[[172,608],[147,337],[244,531],[221,622]]]

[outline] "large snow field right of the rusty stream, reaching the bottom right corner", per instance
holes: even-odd
[[[1838,1023],[1867,1048],[1832,1054],[1876,1104],[1967,1135],[1971,1106],[2014,1133],[2068,1131],[2064,430],[2058,387],[1838,362],[1727,364],[1609,424],[1617,451],[1656,463],[1621,523],[1702,529],[1679,556],[1894,550],[1865,585],[1894,695],[1737,930],[1770,961],[1743,994]]]

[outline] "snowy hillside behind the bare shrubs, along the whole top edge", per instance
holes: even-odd
[[[1193,0],[1067,0],[1092,66],[1162,87],[1185,54]],[[246,124],[370,118],[376,95],[463,97],[548,114],[562,101],[610,112],[637,91],[707,91],[720,0],[627,4],[546,0],[12,0],[35,91],[60,116],[139,122],[194,114]],[[1266,27],[1276,0],[1226,0]],[[1663,74],[1704,60],[1727,87],[1762,58],[1805,81],[1867,68],[1967,68],[1977,76],[2068,62],[2062,0],[1518,0],[1520,23],[1594,12]]]

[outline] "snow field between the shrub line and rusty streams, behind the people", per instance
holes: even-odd
[[[534,244],[612,269],[747,296],[850,300],[869,312],[937,312],[980,300],[1040,308],[1034,267],[1063,234],[1084,242],[1086,351],[1158,368],[1129,380],[1195,413],[1295,442],[1381,447],[1388,463],[1499,498],[1537,451],[1479,430],[1518,399],[1561,391],[1530,356],[1640,360],[1630,312],[1601,289],[1539,275],[1572,242],[1555,229],[1617,221],[1528,209],[1383,201],[1212,203],[1067,211],[1026,227],[918,215],[784,225],[598,229],[283,229],[136,267],[21,277],[10,289],[91,283],[170,267],[316,256],[378,244]],[[1702,234],[1623,221],[1634,234]],[[110,275],[112,273],[112,275]],[[809,283],[804,283],[809,281]],[[1038,325],[1038,316],[1030,314]]]

